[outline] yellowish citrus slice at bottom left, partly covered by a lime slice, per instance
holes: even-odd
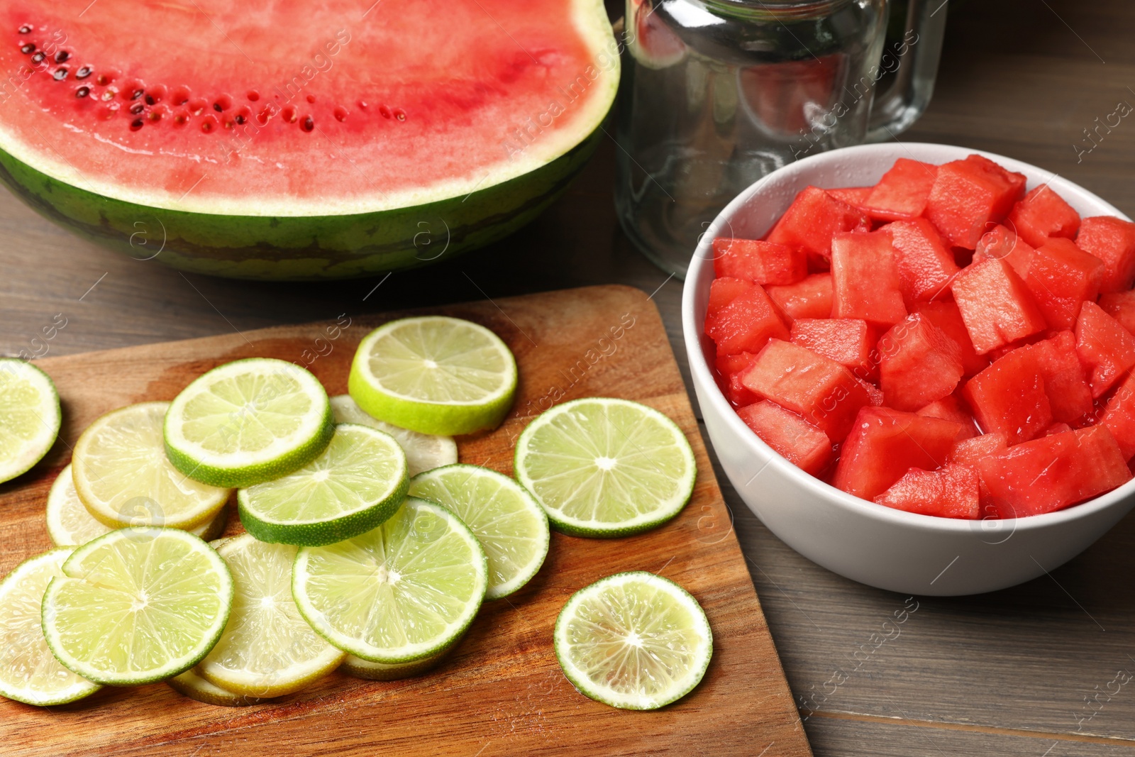
[[[70,549],[25,560],[0,582],[0,695],[27,705],[61,705],[99,690],[59,664],[43,638],[40,607]]]

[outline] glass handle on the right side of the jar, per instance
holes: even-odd
[[[889,0],[892,5],[901,0]],[[938,76],[949,0],[907,0],[902,39],[889,42],[880,59],[894,72],[885,91],[876,92],[871,108],[868,142],[885,142],[910,128],[930,104]]]

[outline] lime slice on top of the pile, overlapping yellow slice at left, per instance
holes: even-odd
[[[306,465],[333,430],[319,379],[283,360],[250,358],[212,369],[174,398],[166,452],[199,481],[246,487]]]

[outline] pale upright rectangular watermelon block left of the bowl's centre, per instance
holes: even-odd
[[[907,317],[889,232],[848,232],[832,239],[832,318],[892,326]]]

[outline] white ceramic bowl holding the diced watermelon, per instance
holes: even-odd
[[[945,144],[844,148],[773,171],[717,216],[690,261],[682,329],[693,389],[709,440],[730,482],[749,508],[801,555],[849,579],[911,595],[993,591],[1071,560],[1135,505],[1135,480],[1079,505],[1016,520],[961,521],[876,505],[824,483],[773,452],[722,395],[711,364],[714,346],[703,325],[713,280],[716,235],[759,238],[809,184],[831,188],[876,183],[897,158],[931,163],[978,153],[1048,183],[1081,216],[1127,218],[1087,190],[1019,160]]]

